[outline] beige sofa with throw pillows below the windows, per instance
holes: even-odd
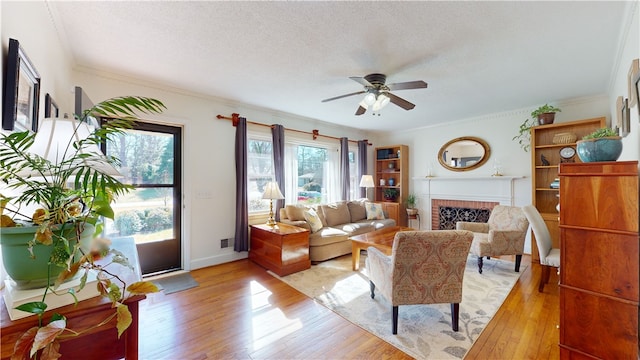
[[[367,204],[370,211],[367,210]],[[350,236],[396,225],[393,219],[381,219],[380,214],[373,211],[374,207],[375,205],[364,200],[342,201],[311,207],[322,223],[313,229],[310,221],[305,219],[305,212],[307,212],[307,218],[309,216],[309,207],[286,205],[280,209],[280,221],[310,231],[309,257],[312,262],[319,262],[350,254]],[[382,211],[381,208],[377,210]],[[318,229],[320,226],[321,228]]]

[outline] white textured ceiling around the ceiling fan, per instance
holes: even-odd
[[[49,6],[79,67],[369,130],[605,94],[629,11],[612,1]],[[321,102],[375,72],[429,87],[393,92],[415,109],[380,116],[354,115],[362,95]]]

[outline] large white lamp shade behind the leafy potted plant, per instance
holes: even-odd
[[[91,132],[89,125],[76,119],[46,118],[40,123],[29,152],[51,163],[60,164],[77,151],[72,143],[86,139]],[[79,151],[89,156],[82,159],[82,163],[75,164],[76,166],[90,166],[110,176],[121,176],[96,144],[86,143]],[[69,166],[73,167],[74,164]]]

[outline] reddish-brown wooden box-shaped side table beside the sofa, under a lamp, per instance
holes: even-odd
[[[251,225],[249,259],[279,276],[311,267],[309,230],[277,223]]]

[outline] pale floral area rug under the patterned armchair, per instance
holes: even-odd
[[[398,334],[393,335],[391,305],[378,292],[371,299],[362,255],[359,271],[351,270],[347,255],[288,276],[271,275],[416,359],[463,358],[520,277],[514,263],[499,259],[485,260],[479,274],[477,257],[469,256],[459,331],[451,330],[450,304],[405,305],[399,307]]]

